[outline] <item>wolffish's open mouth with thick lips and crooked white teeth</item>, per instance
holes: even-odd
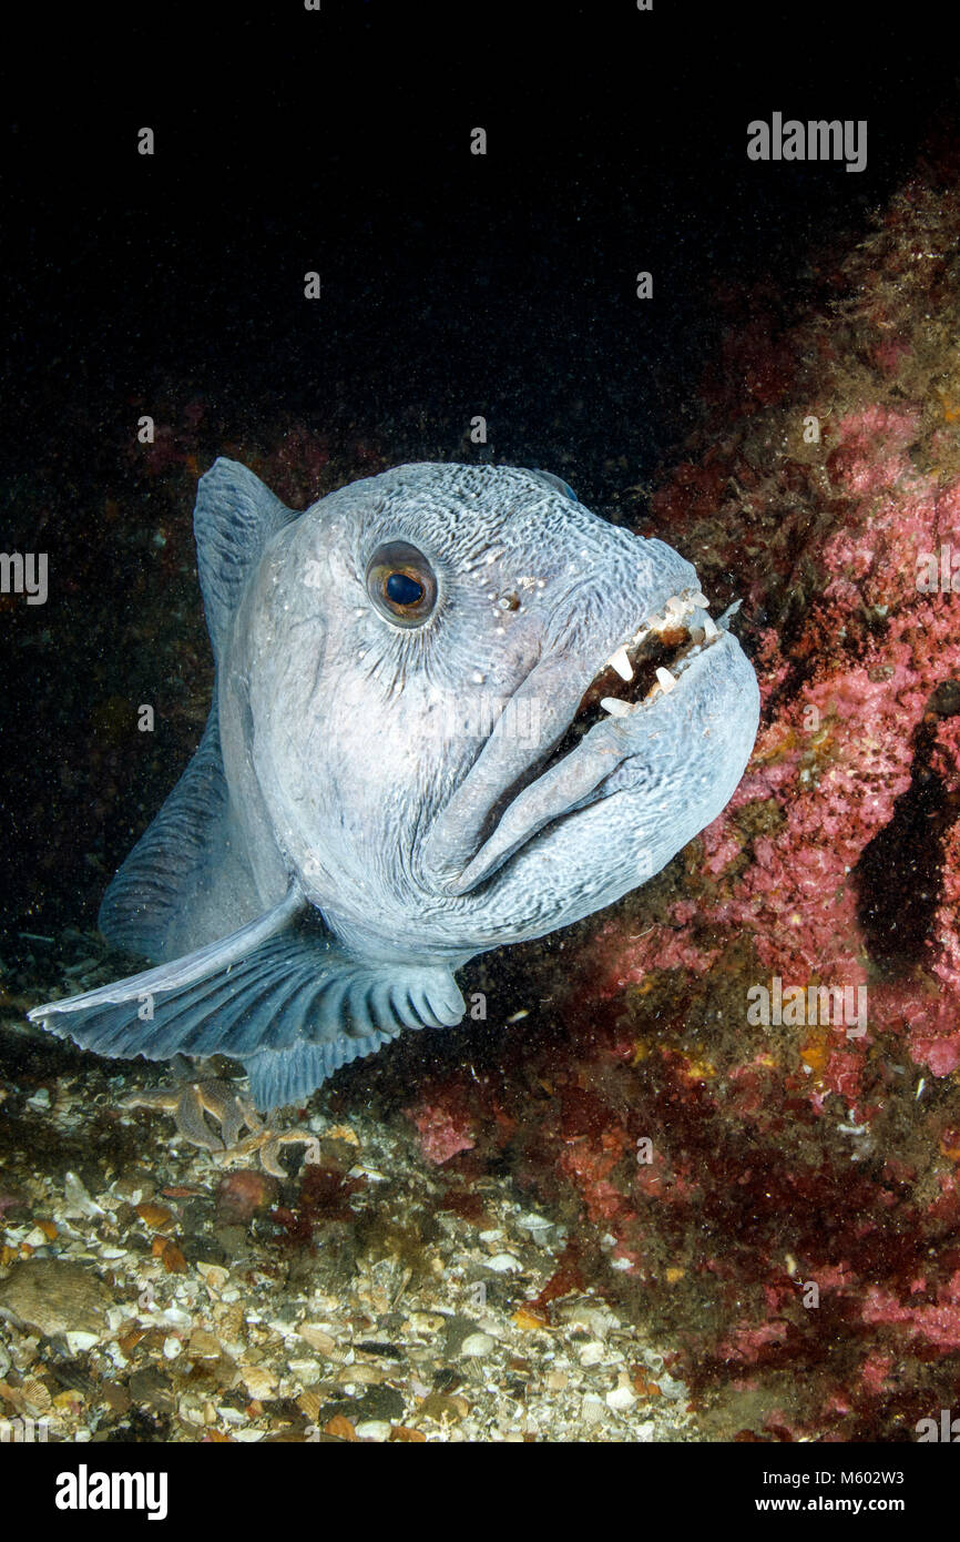
[[[695,586],[683,589],[592,663],[576,668],[553,655],[535,666],[433,831],[445,848],[447,894],[478,888],[533,836],[606,797],[607,779],[660,732],[689,732],[692,717],[703,717],[718,651],[735,651],[752,678],[726,629],[730,612],[718,623],[707,604]],[[524,748],[516,740],[536,702],[541,739]]]

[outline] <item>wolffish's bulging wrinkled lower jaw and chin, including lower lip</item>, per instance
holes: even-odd
[[[758,720],[754,668],[721,631],[673,689],[590,728],[451,885],[473,945],[545,936],[660,873],[732,797]]]

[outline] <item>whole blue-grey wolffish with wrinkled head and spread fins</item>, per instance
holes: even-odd
[[[31,1012],[83,1047],[299,1101],[459,1022],[473,954],[610,905],[740,782],[757,677],[695,569],[556,476],[401,466],[296,515],[217,460],[194,532],[213,706],[100,910],[156,967]]]

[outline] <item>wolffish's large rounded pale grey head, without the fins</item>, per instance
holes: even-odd
[[[493,466],[402,466],[276,530],[219,678],[254,871],[382,958],[638,887],[729,800],[760,706],[689,561]]]

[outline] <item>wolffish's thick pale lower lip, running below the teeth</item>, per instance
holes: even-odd
[[[626,715],[596,722],[584,732],[579,745],[561,756],[559,760],[555,760],[555,751],[550,751],[539,773],[505,805],[490,836],[481,843],[462,873],[448,882],[447,893],[464,896],[476,890],[535,836],[542,834],[576,810],[603,799],[606,794],[598,791],[603,783],[641,752],[655,722],[670,715],[683,705],[690,674],[707,662],[710,652],[718,648],[723,651],[724,643],[740,648],[724,629],[718,629],[713,637],[704,638],[703,643],[693,643],[672,666],[676,683],[670,692],[655,685],[639,702],[632,705]],[[598,674],[603,672],[601,668]],[[573,717],[576,715],[575,712]],[[553,793],[555,797],[550,796]]]

